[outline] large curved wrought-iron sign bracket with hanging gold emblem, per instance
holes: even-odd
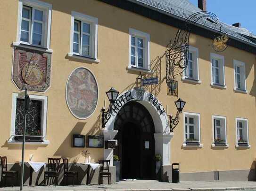
[[[176,76],[182,75],[187,68],[189,57],[189,38],[192,27],[202,18],[215,24],[218,35],[213,40],[213,47],[217,52],[223,52],[227,48],[228,37],[222,31],[219,18],[211,12],[200,11],[190,15],[185,20],[184,29],[179,29],[174,40],[171,40],[165,51],[166,59],[166,83],[173,84]]]

